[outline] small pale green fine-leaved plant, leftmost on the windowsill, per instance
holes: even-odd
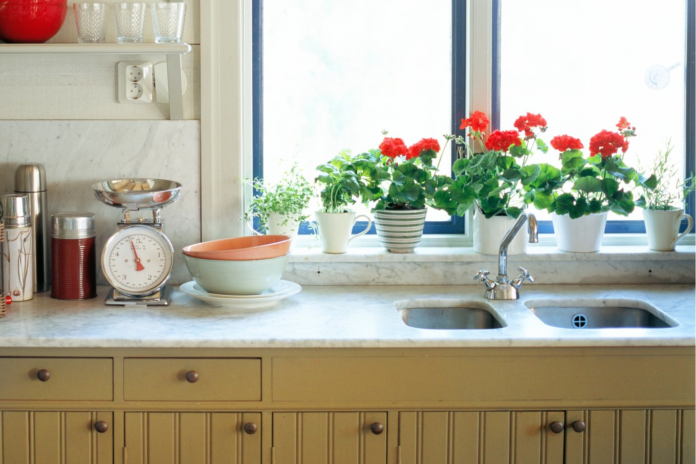
[[[248,182],[257,193],[251,198],[248,210],[244,213],[246,222],[257,217],[260,230],[267,232],[271,212],[283,216],[283,222],[279,224],[281,226],[287,226],[291,221],[302,222],[309,217],[306,209],[314,197],[314,190],[302,175],[297,162],[292,164],[289,171],[285,171],[282,180],[275,185],[267,185],[263,179],[258,178]]]

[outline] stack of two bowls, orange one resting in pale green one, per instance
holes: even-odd
[[[196,284],[217,295],[260,295],[278,284],[290,256],[287,235],[223,238],[184,247]]]

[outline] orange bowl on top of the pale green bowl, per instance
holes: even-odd
[[[225,261],[277,258],[290,252],[290,240],[287,235],[221,238],[189,245],[183,252],[193,258]]]

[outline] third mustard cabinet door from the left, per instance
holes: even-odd
[[[386,412],[274,412],[274,464],[386,463]]]

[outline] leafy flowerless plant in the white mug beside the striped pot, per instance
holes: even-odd
[[[363,155],[352,155],[351,150],[342,150],[333,159],[317,166],[319,175],[315,183],[323,184],[319,199],[324,212],[344,212],[347,206],[354,205],[358,199],[362,203],[372,200],[373,194],[363,180]]]

